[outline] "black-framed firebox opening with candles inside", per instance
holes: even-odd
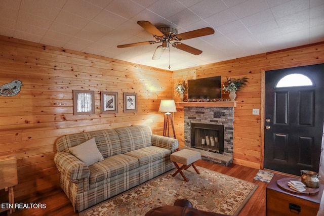
[[[191,123],[191,147],[224,153],[224,126],[217,124]]]

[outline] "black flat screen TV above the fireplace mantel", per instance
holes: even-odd
[[[222,77],[214,76],[188,80],[188,100],[221,99]]]

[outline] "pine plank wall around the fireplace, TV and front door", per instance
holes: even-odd
[[[264,101],[261,97],[261,71],[290,68],[324,63],[324,42],[310,46],[264,53],[245,58],[239,58],[200,67],[174,71],[173,81],[178,83],[183,79],[222,76],[249,78],[248,86],[237,93],[237,107],[234,108],[234,159],[233,162],[254,168],[263,167],[263,141],[261,136],[261,108]],[[228,94],[222,95],[228,99]],[[180,102],[179,97],[175,97]],[[252,115],[252,109],[260,109],[260,115]],[[177,139],[184,146],[183,108],[177,107],[175,113],[175,128]]]

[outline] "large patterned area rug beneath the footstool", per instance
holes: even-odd
[[[79,215],[144,215],[152,208],[173,205],[178,198],[189,200],[194,208],[238,215],[258,185],[197,166],[184,171],[189,182],[171,170],[123,194],[80,212]]]

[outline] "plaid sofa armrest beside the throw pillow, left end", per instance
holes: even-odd
[[[70,178],[71,182],[75,183],[77,180],[89,178],[90,176],[89,167],[68,152],[57,152],[54,162],[60,173],[66,178]]]

